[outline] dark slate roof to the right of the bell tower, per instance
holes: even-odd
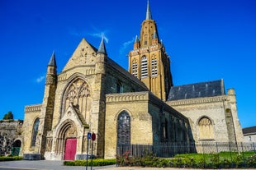
[[[224,94],[223,80],[212,80],[190,85],[173,86],[169,91],[168,101],[205,98]]]

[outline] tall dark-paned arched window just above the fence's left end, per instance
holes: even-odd
[[[126,112],[117,118],[117,145],[130,145],[130,116]]]

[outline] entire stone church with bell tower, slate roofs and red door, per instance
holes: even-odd
[[[118,145],[243,141],[235,90],[225,94],[223,80],[173,85],[149,2],[128,71],[103,38],[98,48],[83,38],[59,73],[53,53],[42,103],[25,107],[22,128],[25,159],[84,159],[88,132],[97,136],[93,154],[105,159]]]

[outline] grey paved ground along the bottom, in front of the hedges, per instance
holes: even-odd
[[[115,165],[105,167],[92,167],[92,170],[107,169],[107,170],[178,170],[186,168],[141,168],[141,167],[116,167]],[[191,170],[192,168],[187,168]],[[0,162],[0,170],[86,170],[86,167],[69,167],[64,166],[63,161],[50,161],[50,160],[39,160],[39,161],[6,161]],[[91,170],[91,167],[88,167]],[[201,170],[201,169],[200,169]],[[221,169],[225,170],[225,169]],[[228,169],[230,170],[230,169]],[[241,169],[238,169],[241,170]],[[243,169],[245,170],[245,169]],[[251,169],[250,169],[251,170]]]

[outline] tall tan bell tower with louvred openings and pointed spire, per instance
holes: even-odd
[[[168,91],[173,86],[170,59],[164,44],[159,41],[149,1],[145,21],[141,24],[140,39],[136,36],[134,49],[129,53],[129,72],[143,81],[159,99],[165,101],[168,98]]]

